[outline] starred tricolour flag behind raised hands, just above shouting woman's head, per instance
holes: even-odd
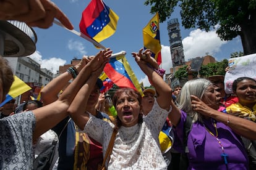
[[[118,87],[130,87],[143,95],[139,81],[134,71],[130,68],[125,55],[112,58],[110,62],[106,64],[104,72]]]

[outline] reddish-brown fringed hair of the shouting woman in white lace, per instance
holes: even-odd
[[[139,92],[137,92],[137,91],[135,91],[134,89],[131,89],[131,88],[122,88],[122,89],[118,89],[114,93],[114,96],[113,96],[113,105],[114,105],[114,107],[116,107],[116,103],[117,103],[118,97],[121,94],[123,94],[123,93],[135,97],[138,100],[139,105],[142,104],[142,96],[140,95]],[[142,115],[142,113],[140,113],[139,114],[138,124],[141,124],[142,122],[143,122],[143,115]],[[114,124],[116,125],[117,129],[122,126],[122,122],[118,118],[118,116],[116,117],[116,121],[115,121]]]

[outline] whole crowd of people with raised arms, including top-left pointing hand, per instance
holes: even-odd
[[[11,2],[0,1],[0,20],[48,28],[56,18],[73,28],[51,1]],[[150,49],[140,49],[132,56],[153,89],[143,95],[118,89],[109,105],[116,115],[110,115],[101,108],[107,102],[98,77],[112,53],[83,56],[43,88],[42,102],[27,101],[15,110],[11,100],[1,108],[1,169],[33,169],[36,156],[56,138],[51,169],[255,169],[255,79],[237,78],[233,95],[214,77],[171,89]],[[13,81],[9,63],[0,57],[1,102]],[[174,153],[179,161],[172,160]]]

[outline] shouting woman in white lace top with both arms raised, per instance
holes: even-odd
[[[163,81],[152,67],[148,67],[151,52],[146,50],[142,54],[132,53],[142,71],[153,83],[158,97],[147,118],[142,119],[142,96],[134,89],[124,88],[116,91],[113,104],[117,111],[117,134],[114,140],[113,152],[105,166],[109,169],[166,169],[167,165],[162,156],[158,134],[171,110],[171,88]],[[144,57],[147,55],[147,57]],[[80,100],[74,100],[70,105],[69,113],[75,123],[87,132],[93,139],[103,146],[105,155],[113,134],[113,124],[94,118],[90,113],[83,113],[87,95],[92,91],[92,83],[96,77],[89,79],[81,89]],[[79,114],[77,114],[79,113]]]

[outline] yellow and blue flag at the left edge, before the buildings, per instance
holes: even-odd
[[[4,100],[4,102],[0,104],[0,107],[2,107],[5,103],[9,102],[15,97],[19,96],[20,94],[23,94],[24,92],[29,91],[30,89],[31,89],[30,86],[28,86],[25,82],[23,82],[17,76],[14,76],[14,82],[12,83],[9,93],[6,95],[6,100]]]

